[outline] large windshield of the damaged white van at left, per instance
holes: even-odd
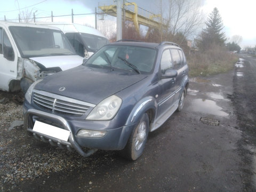
[[[67,37],[59,30],[11,26],[10,31],[22,57],[76,54]]]

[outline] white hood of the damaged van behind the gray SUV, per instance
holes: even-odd
[[[61,70],[67,70],[82,65],[83,58],[78,55],[60,55],[50,57],[33,57],[29,58],[41,63],[46,68],[60,67]]]

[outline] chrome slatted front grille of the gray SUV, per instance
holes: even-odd
[[[38,107],[52,113],[69,116],[82,116],[87,109],[94,107],[91,103],[37,90],[34,90],[33,102]]]

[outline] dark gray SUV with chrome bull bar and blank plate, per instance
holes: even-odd
[[[182,109],[188,84],[179,45],[108,44],[83,65],[29,87],[23,103],[25,129],[84,157],[98,149],[121,150],[135,160],[148,132]]]

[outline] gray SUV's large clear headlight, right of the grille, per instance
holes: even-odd
[[[122,104],[122,99],[112,95],[101,101],[91,113],[86,117],[87,120],[110,120],[115,117]]]

